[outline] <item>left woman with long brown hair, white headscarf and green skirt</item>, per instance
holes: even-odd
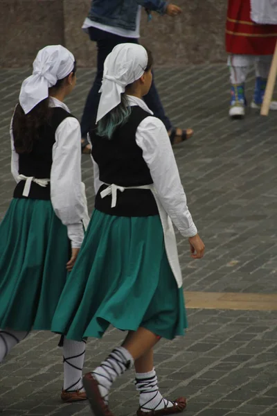
[[[80,125],[63,103],[75,86],[75,70],[63,46],[39,51],[12,117],[17,186],[0,225],[0,362],[32,329],[51,329],[84,237]],[[64,339],[64,401],[86,399],[84,349],[84,342]]]

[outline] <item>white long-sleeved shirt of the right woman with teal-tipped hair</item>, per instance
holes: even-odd
[[[140,98],[127,96],[127,100],[130,106],[139,105],[143,110],[153,114]],[[154,116],[143,119],[136,130],[136,144],[143,150],[143,159],[150,169],[154,187],[168,216],[182,236],[195,236],[197,228],[186,205],[186,194],[163,122]],[[94,160],[93,169],[94,189],[97,193],[102,182],[99,180],[99,168]]]

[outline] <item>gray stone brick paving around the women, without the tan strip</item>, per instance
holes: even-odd
[[[21,80],[29,69],[0,71],[0,217],[8,208],[10,175],[8,125]],[[206,257],[191,261],[179,238],[184,286],[189,291],[276,293],[276,115],[262,118],[248,110],[244,121],[229,121],[228,74],[224,65],[158,69],[157,85],[175,125],[193,127],[195,136],[176,146],[175,155]],[[93,78],[78,71],[78,87],[68,101],[80,116]],[[249,79],[251,98],[253,78]],[[90,209],[93,176],[82,160]],[[277,415],[277,313],[188,311],[186,337],[162,340],[156,349],[159,386],[165,395],[189,399],[186,416]],[[85,370],[117,345],[111,329],[90,340]],[[138,406],[132,377],[116,381],[111,408],[134,415]],[[32,333],[0,367],[3,416],[90,415],[87,404],[61,404],[61,351],[51,333]]]

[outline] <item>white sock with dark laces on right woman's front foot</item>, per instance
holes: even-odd
[[[161,410],[165,407],[172,407],[172,401],[163,399],[159,392],[158,379],[153,368],[147,373],[136,373],[136,390],[139,392],[139,406],[141,410]]]

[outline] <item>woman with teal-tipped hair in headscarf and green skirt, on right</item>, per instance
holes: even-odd
[[[112,416],[108,395],[116,377],[136,369],[137,415],[168,415],[186,399],[163,399],[153,347],[184,335],[186,311],[172,221],[188,237],[191,256],[204,244],[186,205],[163,123],[142,98],[152,83],[152,55],[120,44],[105,60],[97,128],[90,133],[95,210],[79,257],[60,297],[52,329],[73,340],[128,331],[123,344],[83,377],[96,416]],[[170,219],[171,218],[171,219]]]

